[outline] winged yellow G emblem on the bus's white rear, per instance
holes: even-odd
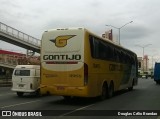
[[[51,39],[50,41],[55,43],[57,47],[65,47],[67,45],[67,40],[73,38],[76,35],[65,35],[65,36],[58,36],[55,39]]]

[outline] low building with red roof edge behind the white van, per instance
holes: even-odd
[[[11,78],[16,65],[40,64],[39,56],[26,56],[23,53],[0,50],[0,79]]]

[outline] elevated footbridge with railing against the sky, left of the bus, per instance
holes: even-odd
[[[40,53],[41,41],[0,22],[0,40]]]

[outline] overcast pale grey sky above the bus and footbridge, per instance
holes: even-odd
[[[160,0],[0,0],[0,22],[41,39],[45,30],[85,27],[101,36],[120,29],[120,44],[160,61]],[[109,27],[111,25],[114,27]],[[151,45],[148,45],[151,44]],[[24,49],[0,40],[0,48]]]

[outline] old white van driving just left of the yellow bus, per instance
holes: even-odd
[[[12,91],[18,96],[24,93],[39,93],[40,66],[39,65],[17,65],[12,74]]]

